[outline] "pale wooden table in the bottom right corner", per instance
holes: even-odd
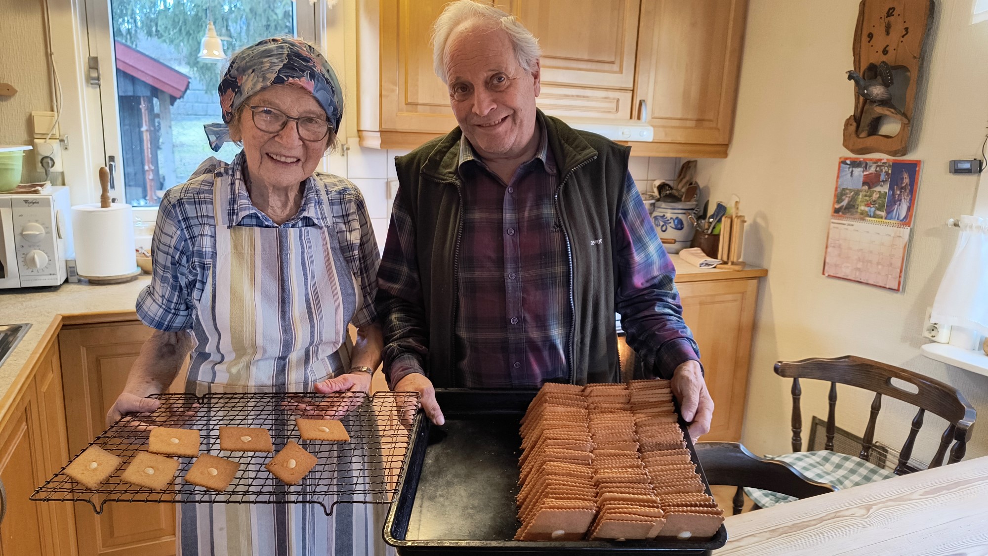
[[[724,520],[714,556],[988,554],[988,457]]]

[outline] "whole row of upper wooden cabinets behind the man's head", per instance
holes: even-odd
[[[449,0],[359,0],[362,146],[414,148],[456,127],[433,70],[432,25]],[[632,155],[726,156],[747,0],[494,0],[542,48],[546,114],[627,120]],[[378,94],[379,93],[379,94]]]

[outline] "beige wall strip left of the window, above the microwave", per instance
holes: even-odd
[[[41,10],[41,0],[0,0],[0,82],[18,90],[13,97],[0,97],[0,144],[31,144],[31,112],[51,110]],[[44,177],[32,171],[34,162],[29,151],[24,158],[25,180]]]

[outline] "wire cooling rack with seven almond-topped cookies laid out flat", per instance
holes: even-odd
[[[156,396],[122,417],[31,500],[388,504],[397,494],[417,393],[215,393]]]

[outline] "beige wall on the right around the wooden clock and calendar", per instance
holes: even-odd
[[[750,228],[745,260],[769,268],[756,319],[743,441],[758,453],[789,451],[790,382],[775,361],[856,354],[958,388],[988,419],[988,377],[920,355],[920,330],[949,260],[949,217],[970,214],[978,177],[951,176],[947,160],[979,156],[988,121],[988,22],[970,25],[973,0],[939,0],[930,35],[925,104],[907,157],[923,160],[905,288],[895,293],[821,275],[837,160],[851,114],[852,36],[858,0],[752,0],[737,120],[729,156],[700,161],[713,198],[738,194]],[[826,418],[826,388],[804,386],[803,416]],[[870,396],[839,389],[838,426],[861,435]],[[898,448],[914,412],[886,401],[879,440]],[[914,455],[929,460],[944,421],[927,418]],[[804,436],[805,440],[806,436]],[[975,426],[968,455],[988,454]]]

